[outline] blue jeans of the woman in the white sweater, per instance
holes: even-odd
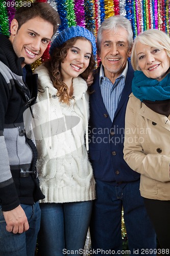
[[[92,201],[44,203],[38,244],[41,256],[81,255],[89,227]],[[81,252],[80,250],[80,252]]]

